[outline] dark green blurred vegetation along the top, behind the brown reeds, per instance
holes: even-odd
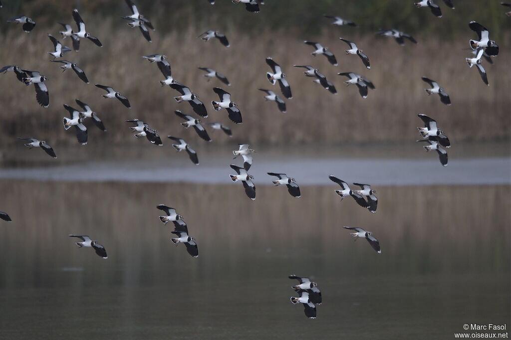
[[[139,11],[155,22],[162,31],[183,30],[189,25],[205,28],[215,22],[215,28],[236,28],[258,33],[261,30],[291,30],[299,34],[316,35],[331,25],[323,14],[337,15],[353,20],[360,33],[381,28],[398,28],[409,34],[441,35],[452,39],[457,35],[472,36],[468,22],[476,20],[499,40],[509,28],[504,20],[505,8],[497,0],[453,0],[455,10],[436,0],[444,16],[434,17],[427,8],[417,9],[413,0],[266,0],[261,12],[245,11],[244,5],[230,0],[217,0],[214,6],[206,0],[152,0],[135,1]],[[39,26],[50,26],[55,21],[72,23],[71,10],[94,13],[99,17],[131,14],[123,0],[6,0],[1,18],[24,14],[36,20]],[[3,26],[2,30],[11,26]],[[340,28],[339,30],[342,30]],[[339,31],[342,32],[342,31]]]

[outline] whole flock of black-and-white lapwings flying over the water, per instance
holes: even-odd
[[[128,5],[129,10],[131,11],[131,15],[123,16],[122,18],[130,21],[127,24],[129,27],[131,28],[138,27],[141,30],[145,39],[151,42],[149,30],[155,30],[152,23],[138,11],[137,7],[132,3],[131,0],[125,1],[126,4]],[[214,0],[208,0],[208,2],[211,3],[212,5],[214,5],[215,3]],[[259,6],[264,5],[264,1],[262,0],[233,0],[233,3],[245,4],[246,10],[253,13],[259,12],[260,11]],[[454,9],[451,0],[444,0],[444,3],[450,8]],[[511,7],[510,4],[506,3],[501,4],[507,7]],[[423,0],[419,3],[415,3],[415,6],[419,8],[429,7],[431,12],[435,16],[442,17],[442,12],[440,8],[438,7],[438,5],[434,4],[432,0]],[[2,7],[1,2],[0,7]],[[506,14],[510,15],[509,12]],[[95,45],[102,47],[103,44],[101,43],[101,41],[97,37],[92,36],[89,32],[87,32],[85,22],[81,18],[77,9],[73,10],[72,16],[76,22],[77,30],[74,30],[74,28],[71,25],[68,25],[67,23],[60,23],[60,25],[62,25],[63,27],[63,30],[60,31],[62,39],[70,37],[73,44],[73,50],[75,52],[79,51],[80,39],[88,39]],[[346,20],[338,16],[330,15],[324,16],[333,19],[334,25],[356,26],[355,22],[351,20]],[[22,23],[22,28],[27,33],[31,32],[36,26],[35,21],[32,18],[27,17],[25,15],[16,16],[8,20],[8,22]],[[487,61],[492,62],[491,57],[495,57],[498,55],[499,47],[495,43],[495,41],[490,40],[489,30],[484,28],[479,23],[471,21],[469,23],[469,28],[477,33],[478,40],[471,39],[469,41],[470,47],[472,48],[475,57],[466,58],[466,62],[470,67],[475,65],[481,75],[482,81],[486,85],[489,85],[486,77],[486,72],[481,65],[482,62],[481,58],[484,57]],[[404,44],[404,38],[408,39],[412,43],[417,43],[417,41],[411,35],[400,32],[396,29],[380,30],[378,34],[392,37],[396,39],[396,41],[400,45]],[[50,54],[53,57],[53,60],[50,61],[61,63],[62,66],[60,66],[60,68],[62,69],[62,72],[64,72],[67,69],[73,69],[78,78],[80,78],[80,80],[83,81],[84,83],[88,84],[89,80],[85,75],[85,72],[76,63],[58,59],[62,58],[65,53],[71,52],[72,49],[67,46],[64,46],[52,35],[49,34],[48,37],[50,38],[50,41],[53,44],[53,51],[48,52],[48,54]],[[207,30],[203,34],[199,35],[198,38],[204,41],[216,38],[225,47],[230,46],[230,43],[225,34],[220,33],[218,31]],[[347,46],[349,46],[349,48],[345,50],[345,53],[347,55],[357,55],[361,59],[363,65],[367,69],[370,69],[368,56],[365,55],[362,50],[360,50],[360,48],[357,46],[355,42],[344,38],[339,39],[345,42]],[[314,52],[312,52],[313,56],[323,55],[328,59],[330,64],[334,66],[337,65],[337,59],[335,55],[328,50],[328,47],[324,47],[318,42],[304,41],[304,43],[314,48]],[[194,93],[188,86],[180,84],[176,80],[174,80],[174,78],[172,77],[171,65],[167,61],[167,56],[160,54],[152,54],[143,56],[143,58],[147,59],[150,63],[156,63],[158,69],[165,77],[164,80],[160,81],[161,86],[168,85],[172,89],[179,92],[180,95],[174,97],[176,102],[178,103],[188,102],[192,110],[201,118],[205,118],[208,116],[206,106],[204,105],[203,102],[199,100],[199,96],[196,93]],[[276,63],[271,57],[266,58],[266,63],[271,69],[271,72],[266,73],[266,77],[270,84],[275,85],[276,83],[278,83],[283,97],[288,100],[292,99],[291,87],[288,81],[286,80],[286,74],[283,72],[282,67],[278,63]],[[314,78],[313,80],[314,82],[320,84],[325,89],[329,90],[331,93],[334,94],[337,93],[335,86],[330,81],[328,81],[327,78],[323,74],[321,74],[321,72],[319,72],[317,68],[310,65],[293,65],[293,66],[305,68],[306,71],[304,71],[304,74],[307,77]],[[217,78],[224,85],[230,86],[230,82],[227,80],[227,77],[220,74],[215,69],[207,67],[199,67],[199,69],[206,72],[206,74],[204,74],[204,77],[206,77],[208,81],[213,78]],[[39,71],[23,69],[17,65],[8,65],[0,69],[0,72],[3,73],[8,71],[13,71],[16,78],[21,83],[24,83],[26,86],[34,84],[36,91],[36,100],[39,103],[39,105],[41,105],[44,108],[47,108],[50,105],[50,94],[48,87],[45,85],[47,77],[41,75]],[[344,84],[348,86],[355,84],[358,87],[360,95],[364,99],[367,97],[368,88],[375,89],[375,85],[370,80],[356,74],[355,72],[340,72],[338,73],[338,75],[347,77],[348,80],[345,81]],[[431,87],[425,89],[428,95],[436,93],[439,95],[440,101],[442,103],[444,103],[445,105],[451,105],[449,95],[446,93],[444,88],[440,87],[437,82],[429,78],[422,77],[422,80],[428,83]],[[106,94],[103,94],[104,98],[116,98],[126,108],[131,108],[128,98],[126,98],[126,96],[124,96],[121,92],[114,90],[113,87],[100,84],[96,84],[96,87],[101,88],[107,92]],[[264,98],[267,101],[276,102],[278,110],[280,110],[281,112],[286,112],[286,102],[284,101],[283,98],[281,98],[280,95],[275,93],[275,91],[269,89],[259,90],[263,91],[266,94]],[[242,124],[243,119],[241,111],[238,109],[237,103],[231,100],[230,93],[220,87],[214,87],[213,91],[219,96],[219,101],[212,101],[211,103],[214,110],[219,111],[225,109],[227,111],[228,118],[232,122],[236,124]],[[68,130],[74,126],[76,129],[76,137],[78,139],[78,142],[82,145],[85,145],[87,143],[87,127],[84,125],[84,120],[86,118],[90,118],[92,122],[100,130],[106,131],[106,128],[101,119],[98,117],[97,113],[89,105],[83,103],[78,99],[76,99],[76,104],[81,108],[81,110],[77,110],[66,104],[63,105],[70,115],[70,117],[63,118],[63,125],[65,130]],[[184,128],[188,129],[190,127],[193,127],[195,132],[201,139],[203,139],[204,141],[211,141],[210,136],[208,135],[206,129],[204,128],[205,124],[204,125],[202,124],[201,119],[195,118],[194,116],[188,114],[184,114],[180,110],[176,110],[175,114],[181,119],[183,119],[181,125]],[[426,114],[419,114],[418,116],[422,119],[425,126],[417,128],[421,136],[423,137],[422,140],[417,140],[417,142],[427,142],[428,145],[424,145],[424,149],[426,151],[436,150],[439,156],[440,163],[446,166],[448,162],[448,157],[447,152],[444,148],[450,147],[449,138],[444,134],[442,130],[440,130],[437,127],[436,120],[427,116]],[[151,128],[146,122],[143,122],[140,119],[127,119],[126,122],[133,124],[133,126],[130,127],[130,129],[132,132],[135,132],[134,134],[135,137],[137,138],[146,137],[151,143],[159,146],[162,145],[162,140],[158,135],[157,130]],[[233,135],[231,129],[228,126],[225,126],[221,123],[208,123],[207,126],[211,127],[214,130],[221,130],[228,136]],[[183,150],[186,151],[189,155],[190,160],[196,165],[199,164],[197,153],[195,152],[195,150],[191,148],[191,145],[187,141],[185,141],[182,138],[170,135],[167,137],[173,142],[175,142],[172,144],[172,147],[174,147],[177,152]],[[53,148],[45,141],[32,137],[30,138],[22,137],[19,139],[27,141],[25,146],[28,147],[29,149],[40,147],[51,157],[57,158]],[[238,181],[242,182],[246,196],[251,200],[255,200],[255,185],[253,182],[253,176],[250,175],[248,171],[253,162],[252,153],[254,152],[255,152],[254,150],[249,148],[249,144],[239,144],[239,149],[233,151],[233,154],[235,156],[234,158],[242,156],[243,164],[242,166],[230,164],[230,167],[236,172],[236,174],[229,175],[233,182]],[[268,175],[276,178],[275,180],[272,181],[272,183],[275,186],[286,185],[288,192],[292,197],[299,198],[301,196],[300,188],[294,178],[289,177],[287,174],[282,173],[269,172]],[[330,175],[329,179],[341,187],[340,190],[335,190],[335,192],[337,193],[337,195],[339,195],[341,200],[345,197],[351,197],[355,200],[355,202],[358,205],[367,208],[372,213],[376,212],[378,199],[375,196],[376,191],[371,189],[370,185],[353,183],[355,186],[360,186],[359,190],[354,190],[350,188],[349,184],[335,176]],[[178,214],[176,209],[163,204],[158,205],[157,209],[165,212],[165,215],[159,216],[159,219],[162,223],[167,224],[169,222],[172,222],[174,224],[174,231],[172,231],[172,234],[176,235],[177,237],[171,238],[172,242],[176,246],[178,246],[180,243],[183,243],[191,256],[198,257],[197,243],[195,242],[195,238],[189,235],[188,226],[183,221],[183,216]],[[2,218],[5,221],[11,221],[11,217],[5,212],[0,212],[0,218]],[[377,253],[381,253],[379,241],[372,235],[371,232],[366,231],[362,228],[353,227],[344,228],[353,231],[351,235],[355,238],[355,240],[357,238],[365,238],[368,241],[369,245]],[[86,235],[69,235],[69,236],[77,237],[81,240],[81,242],[76,242],[76,244],[79,247],[93,248],[100,257],[104,259],[107,258],[105,248],[102,245],[100,245],[98,241],[92,240],[89,236]],[[305,306],[305,315],[308,318],[315,318],[316,304],[321,304],[321,293],[317,288],[317,284],[315,282],[312,282],[309,278],[305,277],[298,277],[292,275],[289,276],[289,278],[297,279],[299,281],[298,285],[292,287],[296,291],[296,293],[298,293],[299,296],[292,297],[291,302],[293,304],[302,303]]]

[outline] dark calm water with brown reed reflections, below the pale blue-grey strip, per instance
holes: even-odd
[[[14,220],[0,221],[0,338],[452,339],[466,323],[509,328],[508,185],[378,186],[376,214],[339,202],[333,183],[301,189],[294,199],[260,185],[251,202],[241,184],[0,180],[0,210]],[[159,203],[184,216],[198,258],[172,245]],[[342,226],[373,231],[382,254]],[[317,319],[289,301],[290,274],[318,282]]]

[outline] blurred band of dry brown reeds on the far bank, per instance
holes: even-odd
[[[346,45],[338,40],[335,30],[324,31],[315,40],[330,47],[337,56],[339,66],[330,65],[322,56],[312,57],[312,48],[301,42],[300,37],[282,32],[260,32],[247,36],[229,30],[230,48],[218,41],[203,42],[196,38],[201,30],[190,26],[181,33],[170,32],[164,36],[151,32],[153,43],[144,40],[137,30],[122,27],[119,23],[103,23],[98,32],[112,30],[111,35],[97,34],[103,44],[99,48],[89,41],[82,41],[79,53],[70,52],[63,59],[77,62],[86,72],[90,84],[81,82],[73,71],[61,74],[59,64],[50,63],[46,52],[51,43],[45,33],[29,35],[9,31],[0,37],[4,48],[0,51],[2,65],[17,64],[23,68],[40,70],[49,77],[50,107],[43,109],[35,101],[33,87],[25,88],[14,77],[0,77],[0,103],[3,110],[3,134],[0,141],[15,142],[17,136],[37,136],[53,143],[76,143],[71,131],[64,131],[62,117],[67,111],[62,104],[76,106],[74,100],[88,103],[104,120],[108,132],[100,133],[92,127],[90,143],[135,143],[124,119],[140,118],[154,126],[162,136],[173,134],[201,142],[193,131],[184,131],[173,111],[184,113],[192,110],[187,103],[178,104],[173,96],[178,93],[169,87],[160,87],[163,79],[156,65],[141,58],[143,55],[161,53],[169,57],[174,78],[188,85],[200,95],[210,117],[205,122],[220,121],[233,128],[235,140],[251,143],[321,143],[342,142],[409,142],[417,137],[420,125],[417,113],[427,113],[436,118],[453,140],[494,140],[509,137],[510,72],[509,49],[501,42],[501,52],[494,58],[494,65],[483,62],[491,86],[486,87],[476,69],[469,69],[464,57],[470,51],[468,37],[455,41],[442,41],[416,35],[419,44],[399,46],[393,39],[376,36],[342,36],[357,42],[369,56],[371,69],[366,69],[358,57],[345,56]],[[119,29],[117,29],[119,27]],[[51,33],[58,36],[59,27]],[[349,31],[345,31],[349,32]],[[508,39],[507,39],[508,40]],[[34,43],[36,42],[37,43]],[[69,39],[63,40],[71,45]],[[135,45],[130,43],[136,42]],[[288,100],[288,112],[280,113],[275,103],[265,102],[258,88],[278,86],[266,80],[269,67],[265,58],[271,56],[283,66],[288,75],[294,98]],[[302,69],[292,67],[314,65],[337,87],[332,95],[306,78]],[[217,80],[206,81],[197,67],[212,67],[227,76],[232,86],[226,87]],[[355,86],[345,88],[345,77],[337,72],[354,71],[377,87],[363,100]],[[438,96],[428,96],[427,84],[421,76],[437,80],[450,94],[453,105],[440,103]],[[111,85],[128,96],[132,108],[126,109],[117,100],[104,100],[95,83]],[[215,112],[211,101],[217,100],[212,91],[220,86],[229,91],[239,104],[244,123],[236,126],[227,119],[225,111]],[[232,142],[220,133],[213,133],[215,141]]]

